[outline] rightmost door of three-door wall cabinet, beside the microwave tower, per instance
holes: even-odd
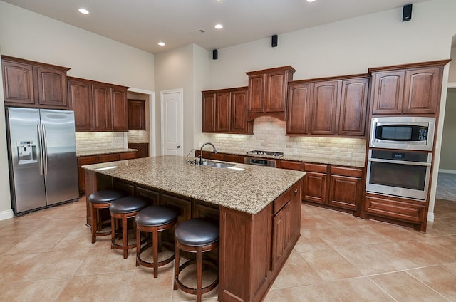
[[[342,80],[339,135],[363,136],[366,128],[369,78]]]

